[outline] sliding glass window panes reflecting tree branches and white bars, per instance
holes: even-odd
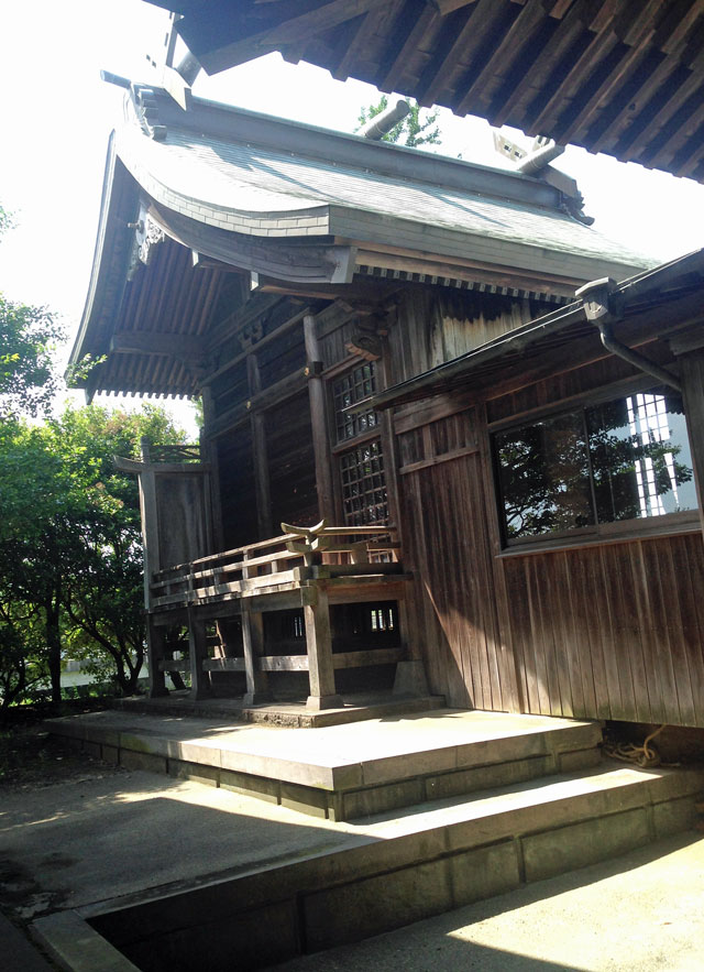
[[[495,436],[508,540],[696,509],[681,397],[623,395]]]

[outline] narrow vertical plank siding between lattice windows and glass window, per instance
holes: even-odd
[[[473,411],[399,439],[404,559],[415,576],[418,643],[451,706],[509,708],[485,531]]]

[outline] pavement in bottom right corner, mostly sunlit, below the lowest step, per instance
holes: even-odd
[[[704,839],[679,834],[277,972],[702,972]]]

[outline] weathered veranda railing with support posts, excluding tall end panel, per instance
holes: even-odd
[[[164,673],[184,668],[164,649],[169,620],[189,631],[191,692],[207,695],[213,673],[244,671],[245,699],[268,698],[267,673],[306,671],[308,705],[342,705],[334,671],[389,665],[405,657],[402,645],[355,645],[332,651],[330,604],[365,603],[403,597],[403,566],[396,532],[389,526],[340,526],[324,523],[304,528],[282,524],[280,536],[221,554],[201,557],[156,572],[150,585],[150,664],[154,693],[165,690]],[[302,610],[305,653],[273,654],[264,644],[263,613]],[[211,658],[207,624],[239,615],[242,645],[234,655]],[[160,635],[161,632],[161,635]],[[301,640],[302,641],[302,640]],[[271,647],[271,646],[270,646]],[[275,645],[275,648],[278,646]],[[278,648],[280,651],[280,648]]]

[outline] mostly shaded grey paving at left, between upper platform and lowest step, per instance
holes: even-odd
[[[358,840],[352,824],[188,780],[108,771],[2,795],[0,905],[30,921],[348,840]]]

